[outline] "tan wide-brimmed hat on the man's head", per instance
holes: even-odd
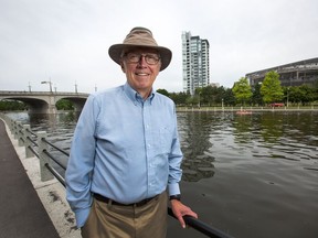
[[[159,52],[161,58],[161,68],[163,71],[171,61],[172,53],[169,48],[159,46],[152,36],[150,30],[146,28],[134,28],[124,40],[123,44],[114,44],[109,47],[108,54],[113,61],[120,64],[123,50],[134,47],[155,48]]]

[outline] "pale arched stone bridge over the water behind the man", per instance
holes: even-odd
[[[29,106],[31,113],[56,113],[55,104],[60,99],[67,99],[74,104],[75,110],[81,111],[88,94],[83,93],[53,93],[53,91],[3,91],[0,90],[0,100],[10,99],[23,101]]]

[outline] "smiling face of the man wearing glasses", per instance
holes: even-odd
[[[148,97],[161,67],[156,50],[131,48],[121,57],[121,68],[128,84],[142,97]]]

